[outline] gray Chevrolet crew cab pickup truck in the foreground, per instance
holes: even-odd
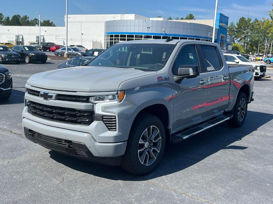
[[[31,76],[22,125],[45,148],[143,175],[167,143],[240,127],[253,84],[253,66],[228,67],[215,43],[120,42],[85,66]]]

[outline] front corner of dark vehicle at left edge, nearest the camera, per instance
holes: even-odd
[[[0,100],[8,99],[12,94],[12,74],[0,65]]]

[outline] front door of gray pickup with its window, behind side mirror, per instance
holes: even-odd
[[[182,45],[183,46],[183,45]],[[176,57],[170,76],[177,76],[179,66],[198,66],[201,71],[201,59],[196,45],[183,46]],[[191,123],[200,121],[207,115],[207,74],[200,73],[195,78],[183,78],[179,83],[172,83],[174,103],[173,132]]]

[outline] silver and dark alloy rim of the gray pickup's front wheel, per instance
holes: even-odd
[[[141,164],[149,166],[155,162],[161,148],[161,135],[156,126],[149,126],[142,133],[138,143],[138,158]]]

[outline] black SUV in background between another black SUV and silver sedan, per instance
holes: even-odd
[[[13,51],[17,52],[21,56],[21,60],[25,63],[37,62],[45,63],[48,59],[46,53],[39,51],[36,47],[30,45],[15,45],[13,46]]]

